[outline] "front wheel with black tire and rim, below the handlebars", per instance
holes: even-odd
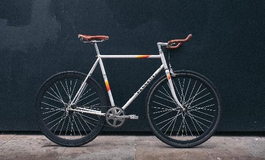
[[[171,80],[186,111],[176,104],[163,76],[146,97],[148,124],[164,143],[177,148],[194,147],[208,140],[218,127],[222,112],[220,95],[212,82],[198,73],[174,73],[176,76],[171,76]]]

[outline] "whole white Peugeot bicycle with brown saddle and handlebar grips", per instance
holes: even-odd
[[[184,40],[158,42],[159,55],[101,55],[97,43],[108,36],[78,35],[83,42],[94,45],[97,60],[87,75],[66,71],[46,80],[35,100],[36,120],[41,132],[61,146],[80,146],[95,139],[103,126],[120,127],[125,120],[138,119],[126,115],[125,109],[145,87],[164,69],[165,75],[150,88],[145,110],[150,129],[164,143],[188,148],[202,144],[216,130],[221,116],[220,95],[213,83],[196,72],[173,71],[163,54],[166,49],[177,49]],[[132,58],[161,59],[162,65],[122,106],[116,106],[102,59]],[[91,75],[100,64],[103,80],[110,100],[107,104],[104,92]]]

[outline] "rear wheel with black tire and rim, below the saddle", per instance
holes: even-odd
[[[95,139],[102,130],[105,117],[81,112],[66,112],[86,75],[67,71],[46,80],[35,100],[36,121],[41,132],[51,141],[67,147],[75,147]],[[105,113],[106,98],[100,85],[88,78],[86,88],[76,105]],[[66,127],[67,123],[67,127]],[[70,126],[70,127],[69,127]],[[71,129],[71,132],[70,132]]]

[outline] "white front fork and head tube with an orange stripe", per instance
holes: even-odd
[[[161,56],[161,60],[162,60],[162,63],[163,63],[163,65],[164,65],[165,75],[166,75],[167,80],[168,80],[168,84],[169,84],[169,88],[170,88],[171,94],[172,94],[174,100],[177,102],[177,104],[178,104],[183,110],[185,110],[185,109],[183,108],[182,104],[180,103],[180,101],[178,100],[177,96],[176,96],[176,92],[175,92],[175,89],[174,89],[174,86],[173,86],[173,83],[172,83],[172,80],[171,80],[170,72],[169,72],[169,70],[168,70],[168,68],[167,68],[167,64],[166,64],[166,61],[165,61],[165,58],[164,58],[164,53],[163,53],[163,51],[162,51],[161,49],[159,50],[159,54],[160,54],[160,56]]]

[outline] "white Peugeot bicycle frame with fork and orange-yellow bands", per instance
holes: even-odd
[[[96,49],[96,52],[97,52],[97,60],[96,62],[94,63],[94,65],[92,66],[92,68],[90,69],[88,75],[86,76],[85,80],[83,81],[80,89],[78,90],[77,94],[75,95],[74,99],[71,101],[70,103],[70,106],[74,105],[77,103],[77,101],[79,100],[85,86],[86,86],[86,80],[92,75],[92,73],[94,72],[96,66],[98,63],[100,63],[100,67],[101,67],[101,71],[102,71],[102,76],[103,76],[103,79],[105,81],[105,85],[106,85],[106,89],[107,89],[107,92],[108,92],[108,97],[109,97],[109,100],[110,100],[110,103],[111,103],[111,106],[115,106],[115,103],[114,103],[114,100],[113,100],[113,97],[112,97],[112,94],[111,94],[111,90],[110,90],[110,87],[109,87],[109,83],[108,83],[108,79],[107,79],[107,75],[105,73],[105,69],[104,69],[104,65],[103,65],[103,62],[102,62],[102,59],[145,59],[145,58],[148,58],[148,59],[161,59],[162,60],[162,65],[155,71],[155,73],[148,79],[146,80],[146,82],[140,87],[140,89],[122,106],[122,109],[125,110],[133,100],[135,100],[138,95],[143,91],[143,89],[157,76],[157,74],[162,70],[164,69],[165,70],[165,74],[166,74],[166,77],[167,77],[167,80],[168,80],[168,83],[169,83],[169,88],[170,88],[170,91],[171,91],[171,94],[173,96],[173,101],[175,101],[175,103],[184,110],[182,104],[179,102],[176,94],[175,94],[175,90],[174,90],[174,87],[173,87],[173,83],[172,83],[172,80],[171,80],[171,76],[170,76],[170,72],[167,68],[167,64],[166,64],[166,61],[165,61],[165,58],[164,58],[164,54],[163,54],[163,51],[161,49],[161,46],[165,46],[167,45],[167,43],[161,43],[161,42],[158,42],[157,45],[158,45],[158,49],[159,49],[159,55],[101,55],[100,54],[100,51],[99,51],[99,48],[98,48],[98,45],[97,45],[97,42],[101,42],[101,41],[96,41],[96,40],[92,40],[90,41],[92,43],[94,43],[94,46],[95,46],[95,49]],[[106,114],[105,113],[101,113],[101,111],[97,111],[97,110],[93,110],[93,109],[87,109],[87,108],[81,108],[81,107],[76,107],[76,109],[72,109],[70,107],[69,110],[72,110],[72,111],[77,111],[77,112],[84,112],[84,113],[89,113],[89,114],[94,114],[94,115],[99,115],[99,116],[105,116]]]

